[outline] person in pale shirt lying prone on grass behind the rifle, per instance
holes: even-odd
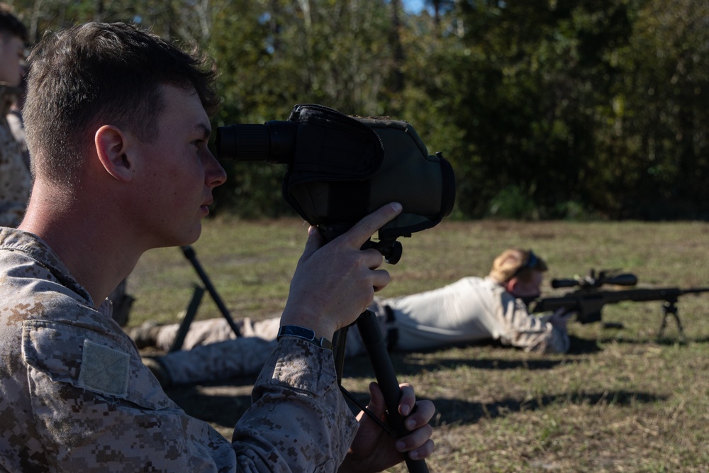
[[[498,340],[526,351],[564,353],[569,350],[566,323],[571,313],[537,317],[527,312],[525,304],[540,295],[546,271],[546,262],[532,250],[509,249],[495,258],[487,277],[464,277],[420,294],[375,298],[369,309],[376,314],[390,350],[411,352]],[[240,336],[225,318],[196,321],[186,334],[183,350],[144,361],[165,385],[217,382],[257,373],[275,346],[278,318],[244,318],[238,325]],[[129,333],[138,347],[167,351],[178,329],[178,324],[145,323]],[[351,328],[345,355],[364,352],[357,328]]]

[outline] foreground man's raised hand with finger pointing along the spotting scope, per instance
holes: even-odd
[[[300,325],[332,340],[336,330],[350,325],[389,284],[389,272],[374,248],[361,250],[376,230],[401,213],[401,204],[387,204],[362,218],[327,244],[317,228],[308,230],[305,250],[291,281],[281,325]]]

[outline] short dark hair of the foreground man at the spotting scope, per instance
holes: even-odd
[[[216,74],[205,56],[125,23],[47,34],[28,64],[23,118],[33,173],[52,182],[77,181],[80,156],[106,123],[145,142],[155,138],[163,85],[194,89],[210,115],[218,106]]]

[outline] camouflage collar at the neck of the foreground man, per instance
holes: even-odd
[[[0,250],[22,252],[45,267],[62,286],[71,289],[94,306],[89,292],[69,273],[69,269],[59,259],[50,246],[33,233],[15,228],[0,227]]]

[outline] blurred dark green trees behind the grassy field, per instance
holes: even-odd
[[[201,45],[220,70],[214,126],[302,103],[409,121],[452,162],[459,218],[709,216],[704,0],[10,4],[33,40],[99,20]],[[227,167],[216,211],[290,212],[281,166]]]

